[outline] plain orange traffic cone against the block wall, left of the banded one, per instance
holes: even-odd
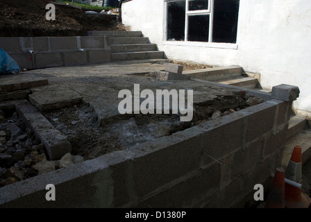
[[[285,170],[282,167],[276,169],[271,189],[267,196],[266,208],[285,207]]]

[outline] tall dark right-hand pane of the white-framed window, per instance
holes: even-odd
[[[215,0],[212,42],[237,42],[239,0]]]

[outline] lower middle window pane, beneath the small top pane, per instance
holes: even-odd
[[[210,15],[188,17],[188,41],[208,42]]]

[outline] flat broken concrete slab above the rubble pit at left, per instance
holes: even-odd
[[[40,110],[53,110],[81,103],[82,96],[71,89],[40,90],[29,95],[29,100]]]

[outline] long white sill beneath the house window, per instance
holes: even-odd
[[[164,45],[173,46],[196,46],[218,49],[237,49],[238,45],[233,43],[217,43],[217,42],[182,42],[182,41],[164,41]]]

